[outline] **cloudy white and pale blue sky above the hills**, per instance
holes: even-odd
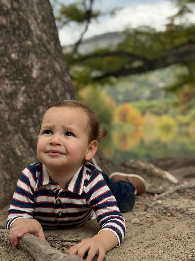
[[[73,3],[75,0],[61,0],[65,4]],[[177,13],[178,9],[170,0],[95,0],[94,9],[102,12],[113,8],[122,8],[116,12],[115,16],[104,15],[93,20],[84,39],[93,35],[106,32],[122,31],[125,28],[135,28],[141,25],[152,26],[158,30],[165,29],[168,22],[167,17]],[[195,15],[191,16],[195,22]],[[59,30],[61,45],[75,43],[80,38],[82,28],[72,24],[64,26]]]

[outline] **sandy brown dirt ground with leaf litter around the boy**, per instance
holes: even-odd
[[[165,180],[145,177],[151,190],[165,191],[171,186]],[[179,183],[194,182],[195,178],[180,178]],[[151,185],[152,184],[152,185]],[[132,211],[123,213],[126,236],[120,247],[106,253],[110,261],[181,261],[195,260],[195,188],[180,189],[169,196],[155,199],[144,193],[136,196]],[[8,207],[0,213],[0,227],[4,228]],[[93,220],[84,226],[67,230],[45,230],[49,244],[63,253],[70,246],[95,235],[99,224]],[[33,261],[28,253],[1,242],[1,261]],[[94,258],[96,260],[96,258]]]

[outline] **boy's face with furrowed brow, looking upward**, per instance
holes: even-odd
[[[77,171],[89,160],[88,116],[71,107],[52,107],[42,119],[37,158],[52,170]]]

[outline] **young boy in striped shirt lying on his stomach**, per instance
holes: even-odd
[[[120,245],[125,223],[116,200],[121,209],[131,209],[135,189],[137,194],[144,192],[145,182],[120,173],[109,179],[89,162],[105,133],[82,102],[64,100],[48,108],[38,134],[38,162],[23,170],[11,201],[6,228],[11,229],[13,247],[25,233],[45,240],[43,228],[78,227],[94,216],[100,232],[67,254],[83,258],[88,252],[86,261],[95,255],[102,261],[107,251]]]

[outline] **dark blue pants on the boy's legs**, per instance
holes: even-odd
[[[112,191],[120,211],[127,212],[131,210],[135,203],[134,186],[131,183],[122,180],[114,182],[104,173],[102,173],[102,176],[109,189]]]

